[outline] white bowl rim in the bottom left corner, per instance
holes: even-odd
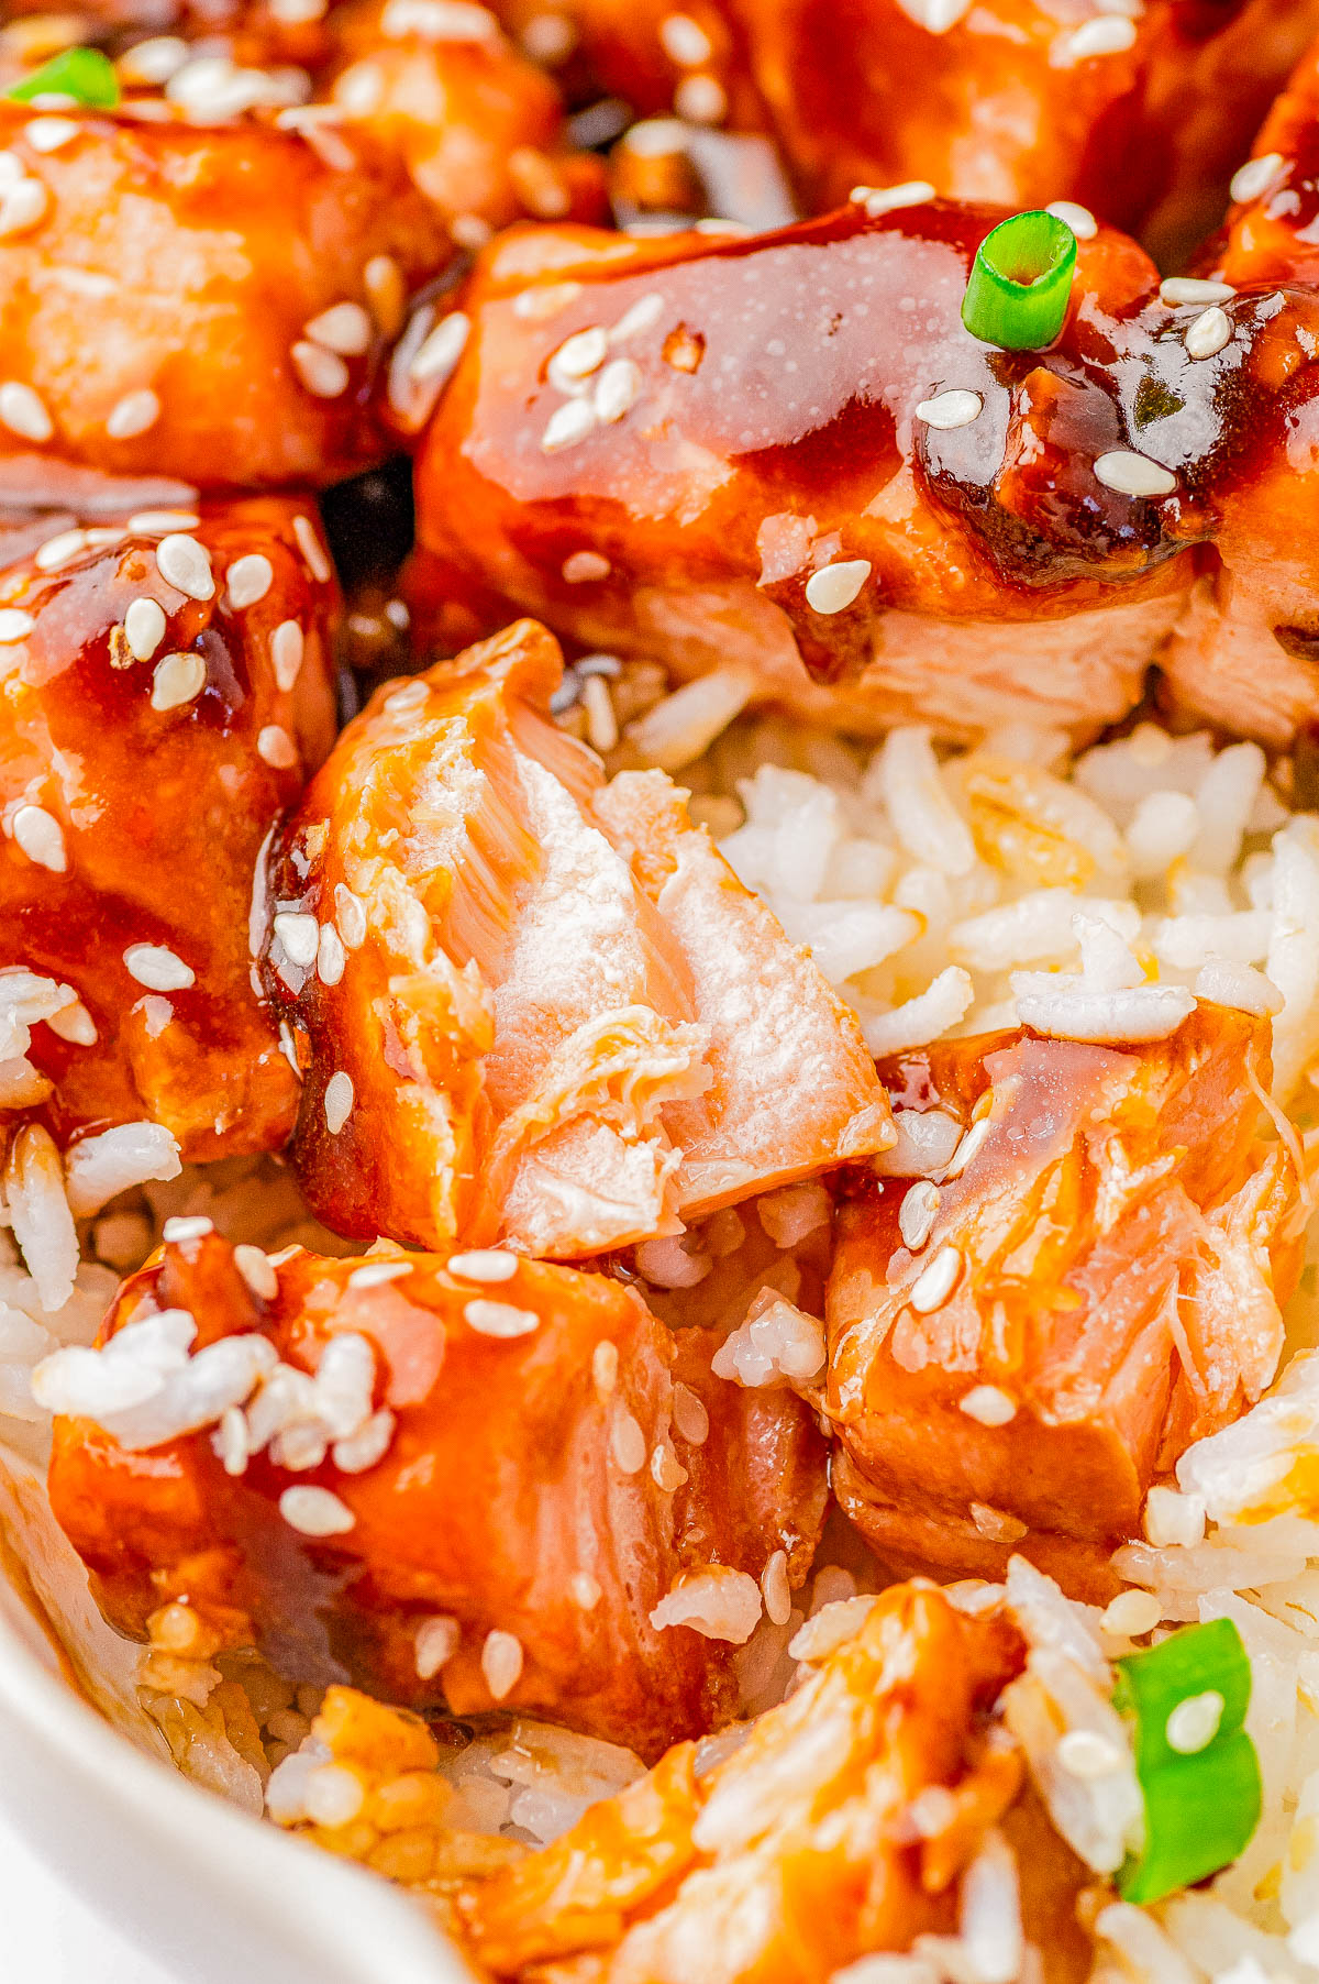
[[[34,1851],[186,1984],[474,1984],[385,1881],[188,1784],[89,1704],[79,1678],[105,1629],[77,1617],[38,1492],[0,1452],[0,1803]],[[131,1665],[109,1635],[99,1651],[113,1714]]]

